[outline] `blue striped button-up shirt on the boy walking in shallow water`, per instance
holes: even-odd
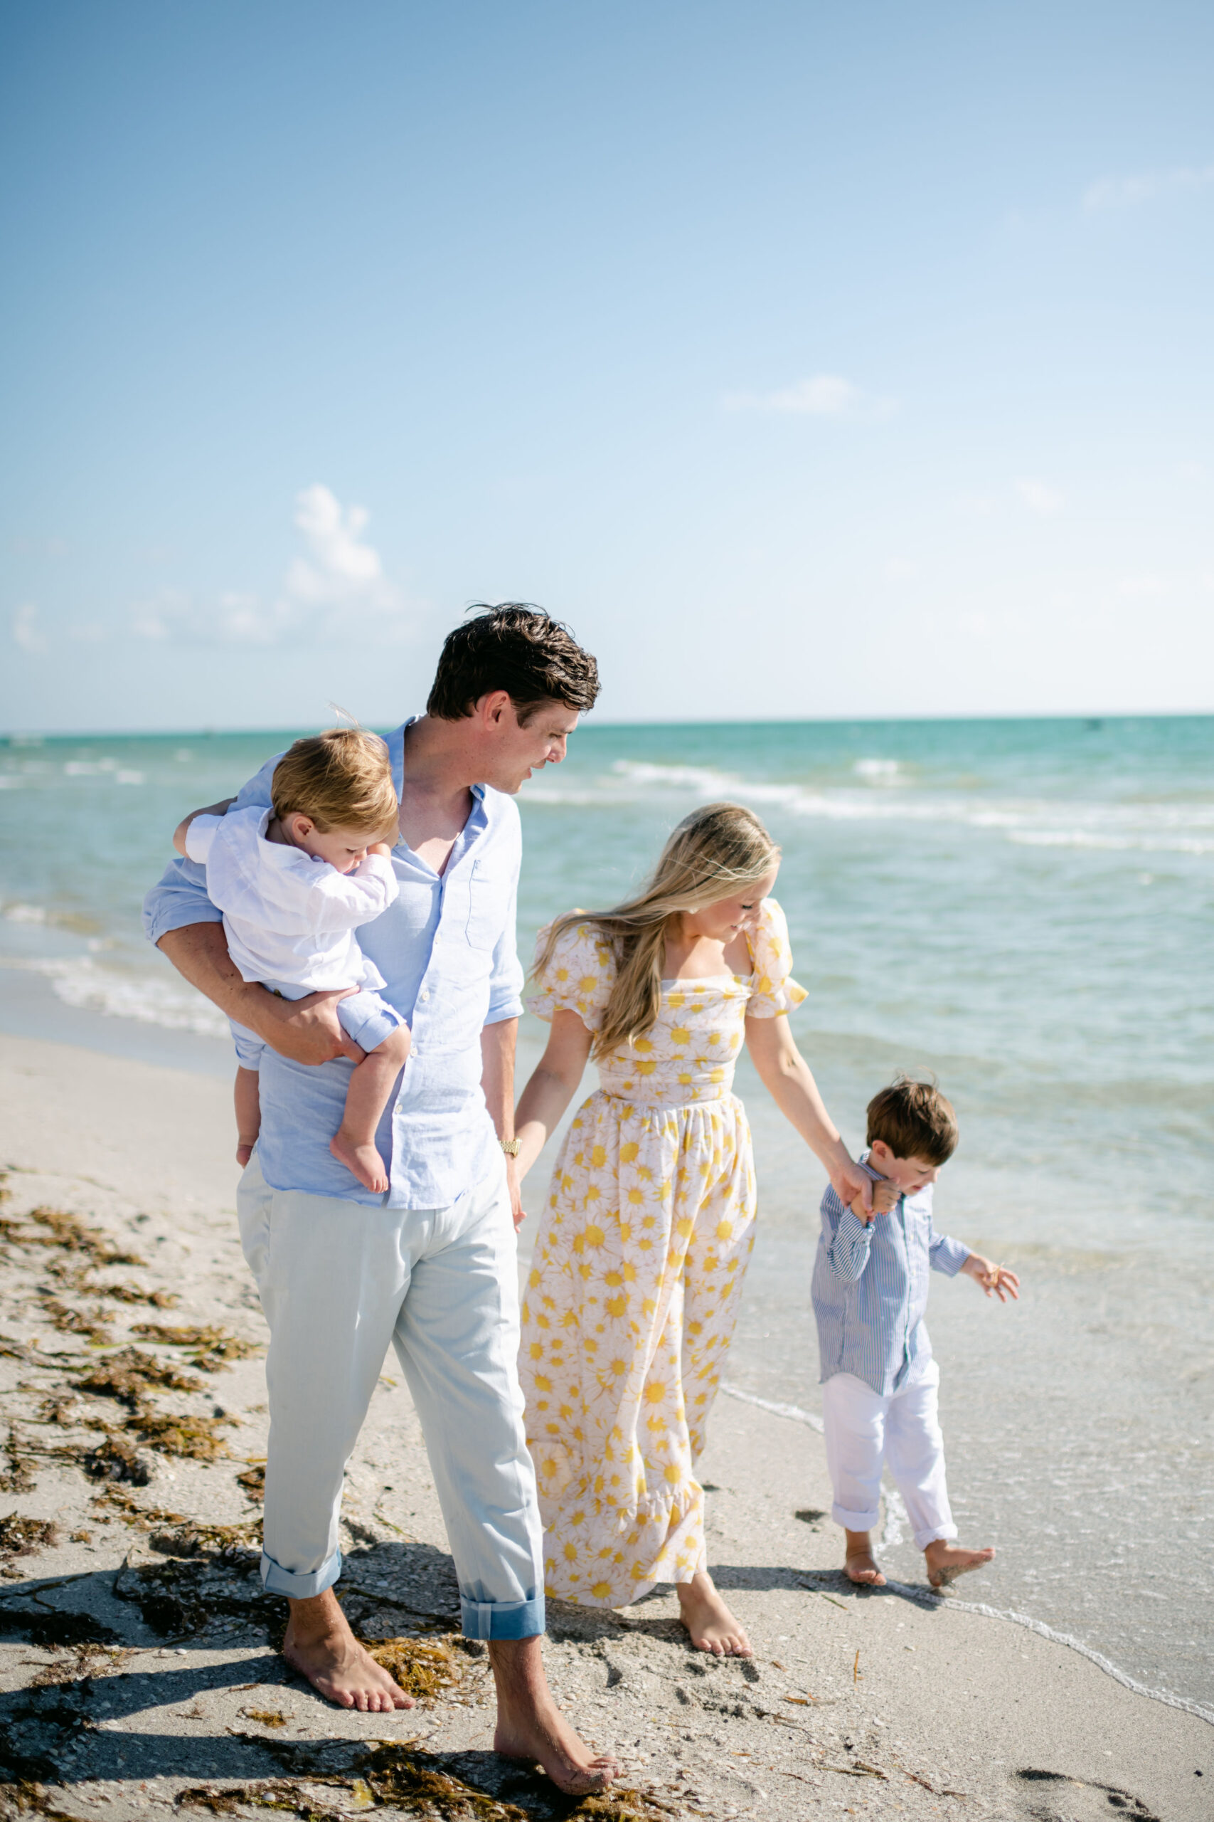
[[[879,1173],[861,1157],[874,1179]],[[932,1184],[901,1195],[888,1215],[865,1223],[828,1186],[814,1261],[814,1317],[821,1377],[855,1374],[888,1397],[932,1359],[923,1312],[928,1272],[954,1277],[970,1248],[932,1226]]]

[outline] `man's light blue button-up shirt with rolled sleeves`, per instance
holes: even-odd
[[[388,736],[397,794],[404,785],[404,727]],[[251,778],[237,809],[271,802],[282,754]],[[501,1168],[497,1133],[481,1088],[481,1031],[522,1013],[515,906],[522,834],[511,798],[473,785],[473,805],[442,876],[399,842],[391,867],[400,893],[359,927],[359,947],[384,977],[382,998],[408,1020],[413,1049],[375,1144],[388,1162],[386,1195],[364,1190],[329,1152],[342,1122],[353,1064],[317,1066],[266,1049],[260,1070],[258,1159],[275,1190],[339,1195],[373,1208],[448,1208]],[[206,867],[175,860],[144,900],[144,929],[160,942],[187,924],[217,924]]]

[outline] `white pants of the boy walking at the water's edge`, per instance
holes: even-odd
[[[823,1385],[826,1467],[835,1494],[830,1510],[845,1530],[872,1530],[881,1516],[881,1467],[906,1501],[917,1549],[956,1538],[945,1487],[945,1438],[937,1416],[939,1366],[883,1397],[855,1374],[837,1372]]]

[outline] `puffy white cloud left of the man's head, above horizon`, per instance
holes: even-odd
[[[280,594],[228,590],[215,601],[197,601],[166,589],[137,605],[131,630],[144,640],[180,640],[202,645],[317,643],[340,638],[395,641],[411,616],[400,590],[384,576],[379,550],[364,541],[369,514],[342,507],[320,483],[295,499],[295,527],[306,556],[286,568]]]

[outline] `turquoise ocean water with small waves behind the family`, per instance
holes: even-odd
[[[0,1028],[231,1068],[138,906],[180,814],[284,738],[0,745]],[[961,1122],[939,1226],[1023,1277],[1017,1308],[934,1281],[954,1509],[999,1547],[965,1598],[1214,1711],[1214,720],[592,723],[521,798],[522,953],[719,796],[783,844],[794,1029],[845,1135],[894,1070],[936,1071]],[[739,1090],[761,1239],[730,1377],[814,1412],[821,1170]],[[917,1576],[897,1523],[885,1561]]]

